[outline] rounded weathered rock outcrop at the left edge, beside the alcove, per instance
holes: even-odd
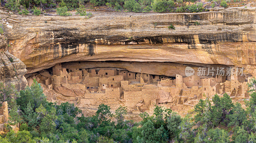
[[[8,52],[6,39],[0,35],[0,82],[14,84],[19,91],[27,86],[26,65]]]

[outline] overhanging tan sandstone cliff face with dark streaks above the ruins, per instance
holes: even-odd
[[[101,13],[80,16],[21,16],[0,13],[9,51],[28,73],[68,61],[159,62],[156,70],[133,72],[175,76],[190,66],[237,66],[255,74],[256,13]],[[200,25],[195,25],[197,22]],[[175,30],[168,29],[173,24]],[[174,72],[166,68],[171,64]],[[159,66],[160,65],[160,66]],[[154,68],[148,64],[149,68]],[[150,67],[151,66],[151,67]],[[99,66],[94,66],[99,67]],[[103,67],[105,67],[103,65]],[[184,73],[179,73],[184,76]]]

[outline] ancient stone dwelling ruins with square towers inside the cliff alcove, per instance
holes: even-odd
[[[183,70],[180,70],[180,75],[166,76],[115,67],[87,68],[90,64],[112,62],[58,63],[25,77],[29,86],[33,79],[41,83],[48,100],[74,103],[85,115],[95,113],[102,103],[108,104],[113,111],[120,105],[126,106],[129,116],[138,116],[144,111],[152,113],[155,105],[182,113],[193,109],[199,99],[208,97],[211,100],[215,94],[222,96],[227,93],[233,101],[241,104],[249,98],[247,82],[251,77],[240,75],[236,67],[229,68],[228,76],[194,74],[188,77],[181,75],[185,72]]]

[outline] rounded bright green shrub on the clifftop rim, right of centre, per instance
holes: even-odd
[[[174,1],[169,0],[154,0],[151,3],[152,9],[155,12],[165,12],[165,11],[171,11],[174,7]]]

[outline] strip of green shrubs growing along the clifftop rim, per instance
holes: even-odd
[[[189,5],[186,2],[193,2]],[[207,11],[207,8],[215,6],[228,7],[225,0],[209,0],[211,3],[195,3],[195,0],[6,0],[5,6],[12,11],[19,12],[19,14],[32,13],[39,15],[45,11],[56,12],[60,16],[70,16],[68,10],[76,10],[80,16],[90,15],[86,13],[85,4],[94,6],[108,6],[116,11],[132,11],[132,12],[201,12]],[[205,5],[206,4],[206,5]]]

